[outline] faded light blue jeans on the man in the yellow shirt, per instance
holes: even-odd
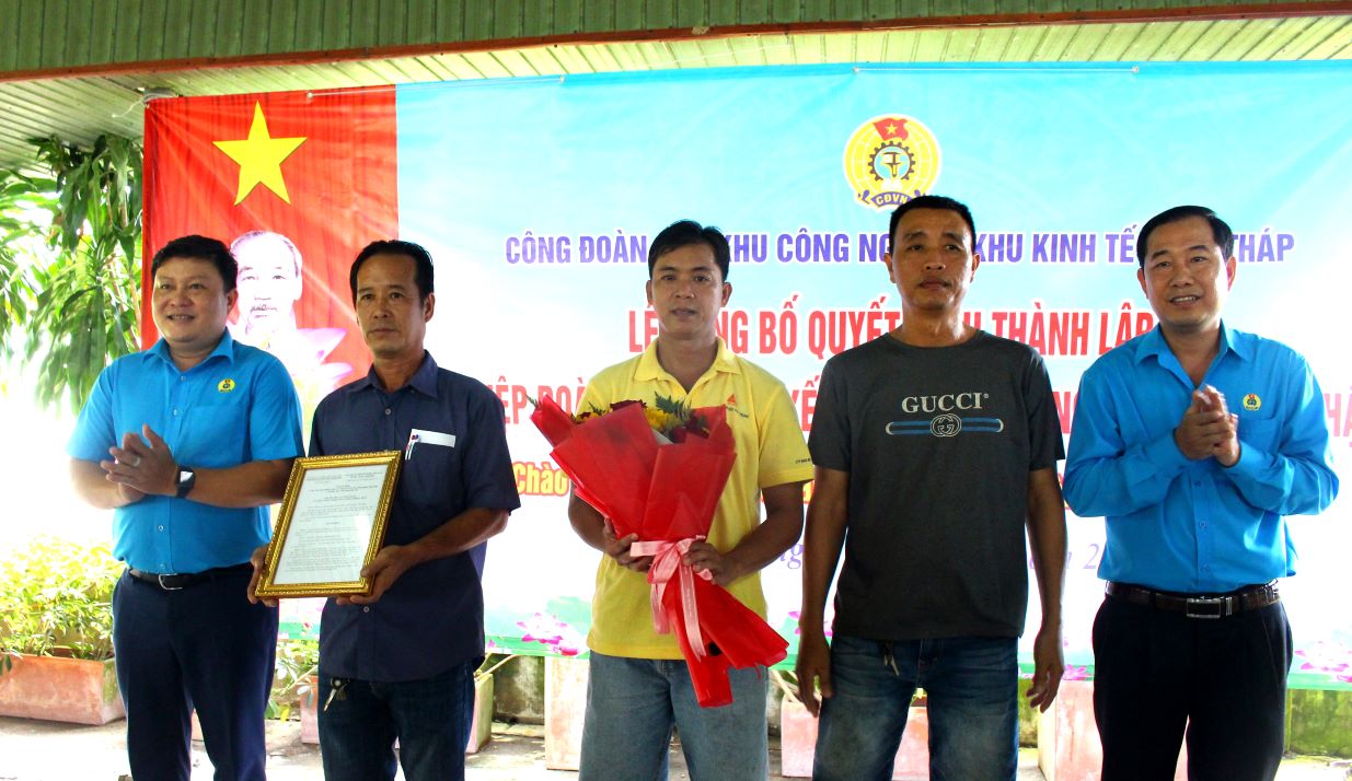
[[[729,670],[733,703],[700,708],[684,659],[591,653],[580,781],[664,781],[672,724],[692,781],[764,781],[769,739],[764,667]]]

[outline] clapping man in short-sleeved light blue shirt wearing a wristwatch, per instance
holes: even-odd
[[[127,563],[112,642],[131,774],[188,781],[196,708],[216,780],[262,780],[277,612],[249,603],[247,562],[303,453],[300,403],[280,361],[226,331],[223,243],[174,239],[151,276],[161,338],[103,370],[66,446]]]

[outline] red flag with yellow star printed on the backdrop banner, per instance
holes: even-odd
[[[323,342],[310,359],[323,362],[324,384],[366,372],[347,272],[361,247],[399,235],[393,89],[154,100],[146,109],[145,154],[145,346],[157,338],[150,319],[155,250],[187,234],[228,246],[250,231],[270,231],[299,251],[300,284],[299,299],[269,305],[291,307],[292,332]],[[230,318],[237,336],[242,316]],[[297,377],[284,350],[260,346]]]

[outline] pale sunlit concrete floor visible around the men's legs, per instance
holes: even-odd
[[[318,781],[323,778],[319,749],[300,742],[297,722],[268,722],[268,778],[270,781]],[[119,781],[127,773],[126,724],[81,727],[54,722],[0,717],[0,781]],[[193,781],[211,781],[211,761],[193,743]],[[466,758],[466,777],[473,781],[538,781],[576,778],[566,770],[545,767],[542,730],[530,724],[493,724],[493,739]],[[771,742],[771,770],[779,770],[779,746]],[[402,778],[402,776],[400,776]],[[672,750],[671,778],[690,778],[677,749]],[[780,776],[772,776],[780,778]],[[1041,781],[1037,755],[1023,750],[1019,781]],[[1290,758],[1282,763],[1279,781],[1347,781],[1348,761]]]

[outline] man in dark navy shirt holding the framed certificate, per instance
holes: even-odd
[[[423,350],[431,257],[368,245],[352,293],[373,365],[315,409],[310,455],[402,450],[369,596],[329,600],[319,640],[319,746],[329,781],[464,778],[473,673],[484,655],[480,576],[489,536],[521,505],[503,409]],[[262,549],[254,555],[261,568]]]

